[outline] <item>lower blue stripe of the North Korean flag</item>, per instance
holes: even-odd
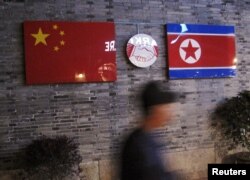
[[[170,79],[224,78],[236,76],[236,69],[170,69]]]

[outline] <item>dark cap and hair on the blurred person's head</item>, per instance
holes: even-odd
[[[151,106],[159,104],[168,104],[177,101],[178,93],[172,91],[163,91],[159,82],[148,82],[141,93],[142,107],[147,115]]]

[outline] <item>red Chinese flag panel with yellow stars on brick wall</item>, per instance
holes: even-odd
[[[27,84],[116,80],[114,23],[25,21],[24,44]]]

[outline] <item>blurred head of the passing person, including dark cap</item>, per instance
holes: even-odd
[[[154,127],[164,125],[171,118],[172,105],[177,101],[177,96],[175,92],[163,90],[159,82],[148,82],[141,94],[145,121],[151,121]]]

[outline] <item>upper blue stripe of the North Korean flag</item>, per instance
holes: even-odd
[[[182,25],[182,26],[181,26]],[[187,28],[185,33],[205,34],[234,34],[234,26],[203,25],[203,24],[166,24],[167,33],[181,33],[183,26]]]

